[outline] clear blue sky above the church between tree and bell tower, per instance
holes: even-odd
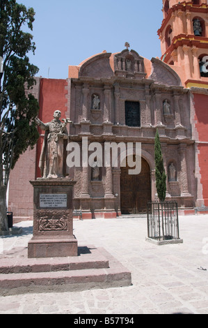
[[[33,41],[37,76],[66,79],[69,65],[106,50],[130,50],[142,57],[161,57],[157,30],[162,0],[17,0],[35,10]]]

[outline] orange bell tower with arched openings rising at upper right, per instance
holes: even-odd
[[[173,66],[185,87],[208,89],[207,0],[163,0],[162,11],[161,60]]]

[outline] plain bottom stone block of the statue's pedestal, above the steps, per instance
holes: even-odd
[[[53,239],[33,237],[28,244],[28,258],[58,258],[77,255],[77,239],[74,236]]]

